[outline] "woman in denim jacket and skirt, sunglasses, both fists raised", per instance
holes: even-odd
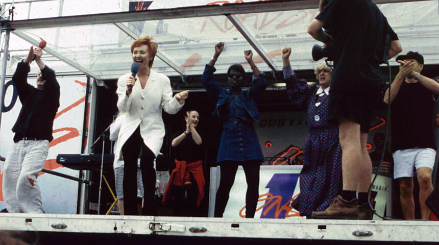
[[[260,121],[256,102],[266,88],[264,74],[253,62],[253,53],[245,51],[245,57],[253,70],[253,86],[243,91],[245,70],[239,64],[231,65],[227,71],[229,89],[222,88],[213,79],[213,65],[224,48],[224,42],[215,45],[215,54],[206,65],[201,80],[207,93],[215,102],[213,111],[223,123],[220,148],[216,162],[221,166],[220,186],[216,192],[215,217],[222,217],[229,200],[229,192],[235,180],[236,170],[241,165],[246,174],[246,217],[255,216],[259,197],[259,166],[264,161],[253,122]]]

